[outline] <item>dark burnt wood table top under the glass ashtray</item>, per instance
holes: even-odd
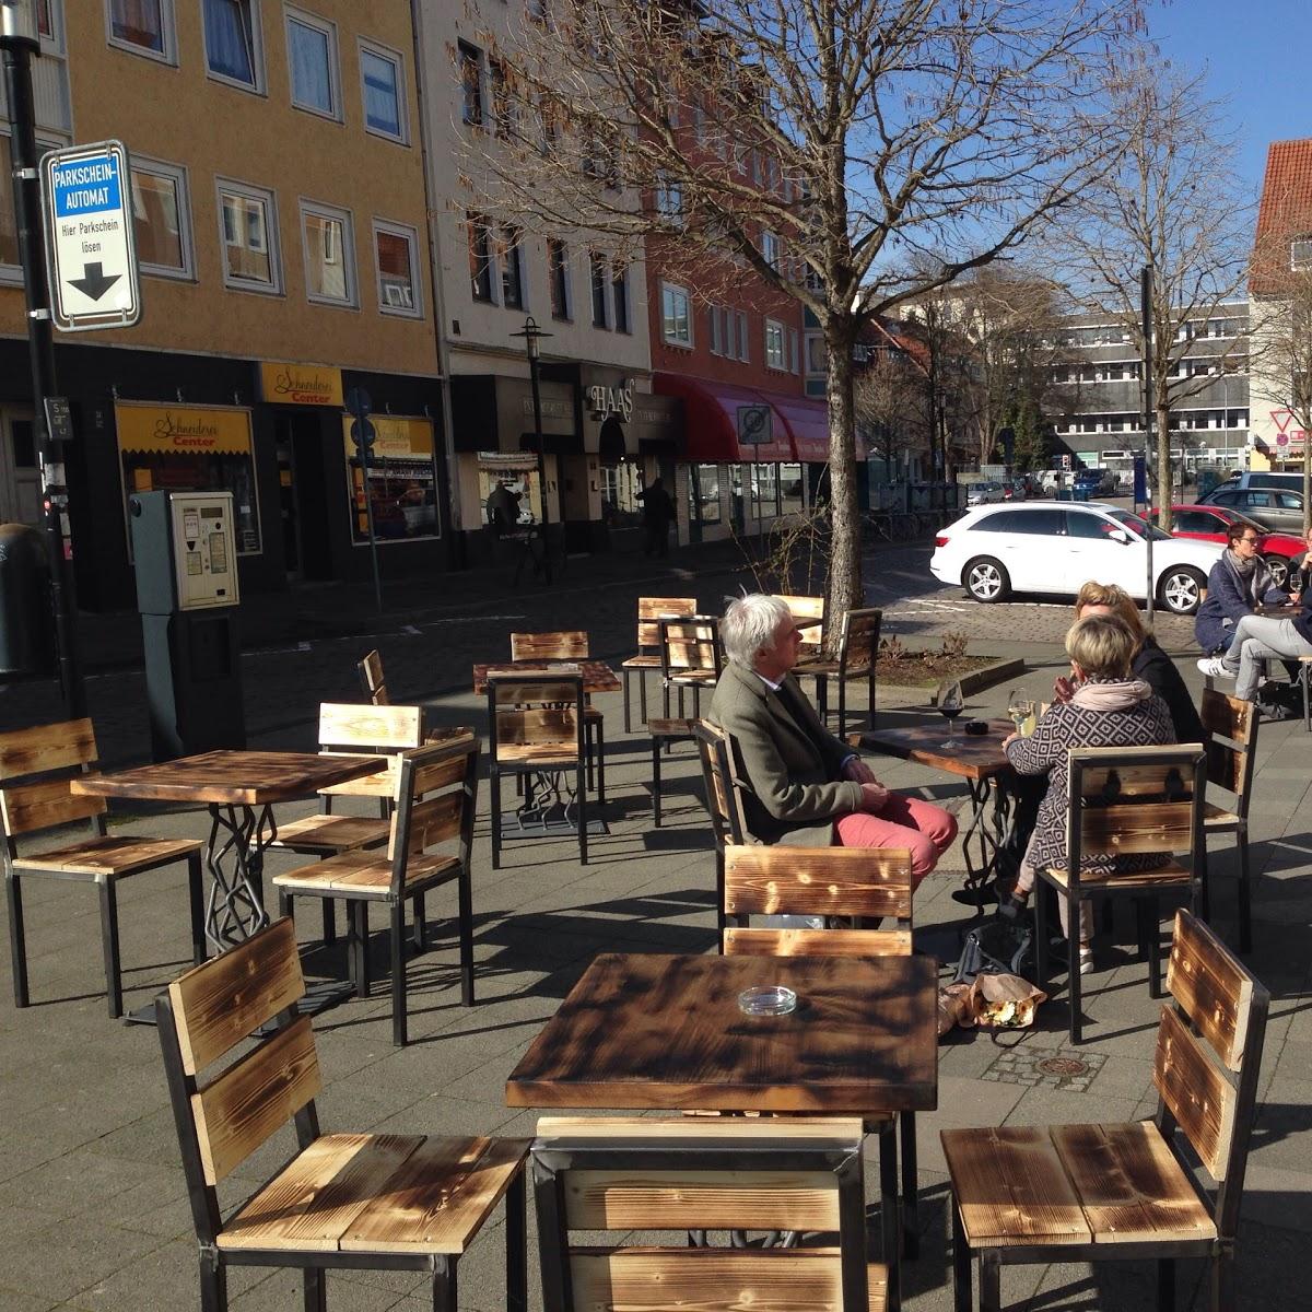
[[[798,994],[744,1015],[753,984]],[[938,1103],[935,963],[928,956],[606,953],[510,1073],[513,1107],[698,1107],[857,1115]]]

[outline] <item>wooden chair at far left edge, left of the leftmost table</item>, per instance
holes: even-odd
[[[13,1005],[28,1006],[28,945],[22,925],[22,884],[29,879],[92,883],[100,893],[100,937],[105,955],[109,1014],[123,1014],[123,974],[118,953],[118,884],[130,875],[186,862],[192,905],[192,958],[205,960],[205,890],[201,884],[203,844],[189,838],[110,837],[105,832],[104,798],[77,796],[72,779],[93,774],[98,754],[91,720],[66,720],[0,733],[0,825],[4,832],[4,875],[9,903],[9,949]],[[17,838],[88,821],[89,833],[43,851],[18,851]]]

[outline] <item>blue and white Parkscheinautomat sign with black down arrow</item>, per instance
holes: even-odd
[[[41,160],[50,312],[64,332],[130,328],[142,316],[131,177],[122,142]]]

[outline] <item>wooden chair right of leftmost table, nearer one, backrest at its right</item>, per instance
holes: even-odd
[[[341,897],[346,903],[349,955],[356,992],[369,996],[369,907],[391,913],[392,1042],[404,1047],[405,900],[415,907],[415,938],[425,945],[424,895],[453,880],[458,887],[461,1001],[474,1005],[474,897],[470,853],[478,806],[479,747],[472,737],[421,747],[401,756],[396,806],[386,853],[346,851],[276,875],[278,909],[290,914],[294,897]],[[429,849],[454,842],[457,853]]]

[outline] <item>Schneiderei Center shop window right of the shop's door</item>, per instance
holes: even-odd
[[[350,495],[352,542],[369,542],[369,501],[374,513],[374,537],[379,542],[401,542],[413,538],[436,538],[437,471],[433,467],[433,425],[426,419],[400,419],[374,415],[374,446],[369,476],[359,451],[350,438],[352,419],[342,417],[346,443],[346,487]]]

